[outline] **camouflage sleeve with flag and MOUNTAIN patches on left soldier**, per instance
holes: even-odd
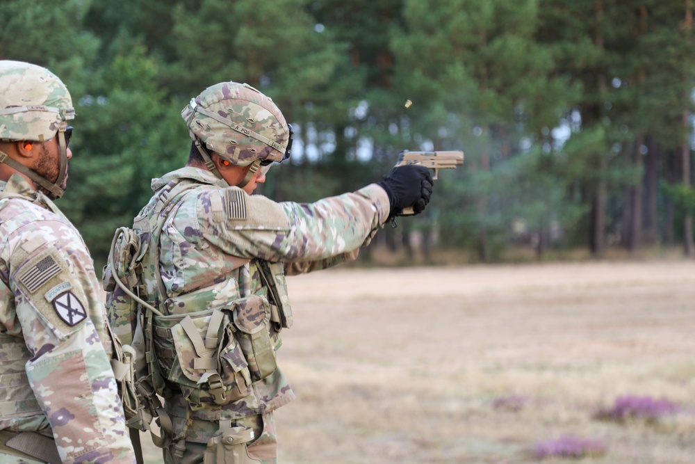
[[[64,463],[134,463],[122,403],[101,343],[104,307],[74,228],[40,221],[15,232],[9,282],[32,358],[31,388]],[[10,240],[11,241],[11,240]]]

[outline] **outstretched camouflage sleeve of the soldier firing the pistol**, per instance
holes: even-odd
[[[242,259],[297,263],[289,266],[297,273],[357,257],[355,251],[386,221],[389,198],[376,184],[314,203],[276,203],[231,188],[202,193],[195,208],[200,231],[213,246]],[[196,238],[183,237],[189,243]]]

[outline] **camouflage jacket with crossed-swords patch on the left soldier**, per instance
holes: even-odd
[[[0,191],[0,430],[55,438],[64,463],[132,464],[89,252],[24,177]]]

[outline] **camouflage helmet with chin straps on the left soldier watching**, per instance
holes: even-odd
[[[44,143],[58,134],[60,170],[56,182],[51,182],[3,152],[0,163],[32,179],[49,191],[51,198],[65,193],[60,185],[67,173],[67,142],[72,133],[67,121],[74,117],[70,92],[55,74],[31,63],[0,61],[0,141]]]

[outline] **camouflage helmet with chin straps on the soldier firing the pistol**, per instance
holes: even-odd
[[[270,97],[247,83],[222,82],[208,87],[181,111],[188,134],[206,166],[220,179],[210,152],[236,166],[251,168],[240,187],[273,161],[290,156],[292,128]]]

